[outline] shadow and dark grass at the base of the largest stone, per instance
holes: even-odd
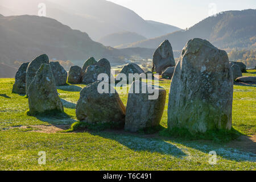
[[[243,136],[239,131],[232,128],[230,131],[209,131],[205,134],[191,135],[187,130],[164,129],[159,133],[162,137],[170,142],[180,143],[186,147],[194,148],[209,154],[210,151],[215,151],[218,156],[228,160],[256,162],[256,153],[251,150],[244,150],[243,146],[236,143]],[[171,138],[170,138],[171,137]],[[230,143],[236,143],[230,145]],[[253,140],[247,140],[249,147],[256,147]],[[240,144],[242,144],[241,141]]]

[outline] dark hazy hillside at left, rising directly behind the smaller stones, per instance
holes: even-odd
[[[105,57],[120,61],[117,49],[94,42],[88,34],[72,30],[51,18],[39,16],[0,17],[0,63],[28,61],[42,53],[50,59],[85,60]]]

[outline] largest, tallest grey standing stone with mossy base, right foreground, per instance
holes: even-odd
[[[192,134],[232,128],[233,75],[228,55],[207,40],[192,39],[172,77],[168,128]]]

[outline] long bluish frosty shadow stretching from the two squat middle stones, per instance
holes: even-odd
[[[115,140],[118,143],[121,143],[123,146],[130,148],[133,151],[148,151],[148,152],[157,152],[163,155],[171,155],[176,158],[183,158],[187,156],[180,148],[176,147],[174,144],[168,143],[161,139],[156,138],[146,138],[139,135],[133,135],[126,132],[117,131],[116,132],[93,132],[89,131],[92,135],[97,135],[102,138]]]

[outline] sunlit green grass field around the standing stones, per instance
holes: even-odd
[[[13,78],[0,78],[0,170],[255,170],[256,85],[234,85],[233,128],[243,135],[220,143],[114,130],[63,133],[76,122],[85,85],[58,87],[65,114],[32,117],[25,114],[27,98],[11,93],[13,84]],[[160,86],[169,90],[170,81]],[[126,105],[127,94],[120,97]],[[46,152],[45,165],[38,164],[39,151]],[[209,164],[210,151],[216,151],[216,165]]]

